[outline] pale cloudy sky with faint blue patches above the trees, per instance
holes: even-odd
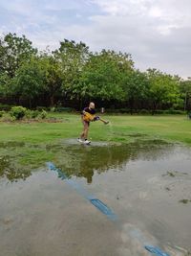
[[[39,50],[74,39],[130,53],[141,71],[191,76],[191,0],[0,0],[0,35],[10,32]]]

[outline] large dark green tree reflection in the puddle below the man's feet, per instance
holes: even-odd
[[[91,183],[95,171],[100,174],[108,169],[121,169],[122,165],[130,160],[159,159],[169,151],[166,146],[168,144],[159,144],[159,141],[107,147],[69,146],[59,167],[65,174],[84,176],[87,182]]]

